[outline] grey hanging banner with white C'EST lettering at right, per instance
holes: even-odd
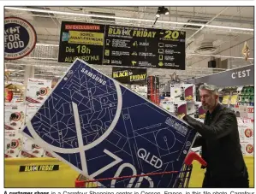
[[[222,73],[214,73],[205,77],[188,80],[191,84],[207,83],[217,86],[238,86],[254,84],[254,65],[234,68]]]

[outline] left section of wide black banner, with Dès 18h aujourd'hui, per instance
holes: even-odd
[[[104,25],[63,21],[58,62],[80,58],[91,64],[103,62]]]

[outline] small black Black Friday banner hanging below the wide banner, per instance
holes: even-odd
[[[146,68],[112,68],[112,78],[128,85],[146,85]]]

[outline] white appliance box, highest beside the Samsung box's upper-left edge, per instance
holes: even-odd
[[[51,91],[50,79],[33,79],[27,81],[26,101],[29,103],[43,103]]]

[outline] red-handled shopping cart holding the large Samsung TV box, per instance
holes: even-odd
[[[86,179],[85,176],[80,174],[78,178],[75,180],[75,187],[77,188],[107,188],[107,187],[115,187],[114,185],[108,185],[105,186],[104,181],[114,181],[115,180],[122,180],[122,179],[136,179],[136,178],[142,178],[142,177],[152,177],[152,176],[163,176],[165,174],[171,174],[171,173],[178,173],[178,176],[176,178],[175,183],[172,187],[174,188],[188,188],[189,179],[192,173],[192,162],[196,160],[198,161],[202,166],[206,167],[206,162],[195,152],[188,153],[188,156],[185,158],[183,167],[181,171],[168,171],[168,172],[161,172],[161,173],[145,173],[145,174],[137,174],[137,175],[131,175],[131,176],[121,176],[121,177],[114,177],[114,178],[104,178],[104,179]],[[147,179],[150,183],[150,179]],[[140,187],[141,182],[138,181],[134,185],[134,187]],[[132,185],[127,185],[127,187],[132,187]]]

